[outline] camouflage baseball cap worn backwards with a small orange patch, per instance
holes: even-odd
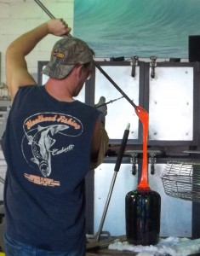
[[[77,64],[93,60],[94,51],[78,38],[65,37],[54,44],[51,59],[43,69],[43,74],[52,79],[64,79]]]

